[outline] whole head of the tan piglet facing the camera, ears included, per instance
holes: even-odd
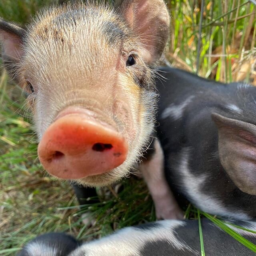
[[[128,174],[154,125],[148,66],[168,29],[162,0],[52,8],[26,30],[0,20],[4,62],[30,93],[38,156],[50,174],[89,186]]]

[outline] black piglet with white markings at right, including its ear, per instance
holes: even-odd
[[[157,136],[179,202],[242,220],[256,218],[256,88],[160,68]]]

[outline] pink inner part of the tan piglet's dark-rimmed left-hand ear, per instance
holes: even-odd
[[[18,61],[22,55],[22,42],[20,37],[4,30],[0,30],[0,40],[2,42],[4,55],[7,58]]]

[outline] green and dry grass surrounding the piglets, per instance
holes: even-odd
[[[26,24],[58,0],[1,0],[0,16]],[[256,85],[256,6],[247,0],[168,0],[171,16],[166,58],[178,68],[222,82]],[[14,255],[38,234],[66,231],[79,239],[155,220],[142,180],[132,178],[100,191],[92,226],[68,182],[48,176],[36,156],[36,137],[21,90],[0,69],[0,255]],[[190,217],[193,214],[190,214]]]

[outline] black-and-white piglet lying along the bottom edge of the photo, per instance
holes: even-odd
[[[256,228],[254,222],[240,222],[239,224],[247,228]],[[202,219],[202,229],[206,256],[255,255],[255,252],[240,244],[207,219]],[[237,228],[236,232],[250,242],[256,243],[256,234]],[[66,234],[56,233],[56,237],[54,233],[45,234],[28,243],[18,256],[201,255],[197,220],[162,220],[124,228],[110,236],[80,246],[79,242],[76,244],[74,241],[74,238]],[[70,247],[67,249],[68,245]],[[74,250],[76,246],[78,247]]]

